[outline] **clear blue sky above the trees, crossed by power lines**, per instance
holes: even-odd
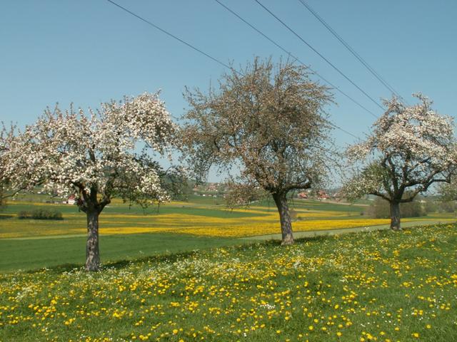
[[[253,0],[221,0],[369,110],[381,114],[326,62]],[[284,57],[214,0],[119,4],[224,63]],[[298,0],[261,0],[373,98],[390,93]],[[439,113],[457,108],[457,1],[307,0],[408,101],[421,91]],[[4,1],[0,11],[0,120],[33,123],[46,105],[96,108],[102,101],[161,89],[174,116],[185,86],[206,89],[224,67],[104,0]],[[317,80],[318,78],[316,78]],[[333,123],[363,138],[375,120],[335,92]],[[334,132],[337,145],[354,141]]]

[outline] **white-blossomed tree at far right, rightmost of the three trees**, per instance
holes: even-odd
[[[386,112],[367,140],[348,148],[361,166],[343,187],[349,199],[370,194],[390,203],[391,229],[401,229],[400,203],[411,202],[433,183],[449,182],[456,166],[453,120],[431,109],[421,94],[417,105],[398,98],[384,101]]]

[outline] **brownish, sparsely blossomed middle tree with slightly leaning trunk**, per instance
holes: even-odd
[[[238,185],[268,192],[278,208],[282,244],[293,243],[287,194],[321,182],[328,160],[323,107],[328,89],[310,80],[307,68],[273,66],[256,58],[244,70],[221,77],[219,89],[186,89],[184,145],[197,175],[211,165],[240,168]],[[236,195],[252,194],[236,189]]]

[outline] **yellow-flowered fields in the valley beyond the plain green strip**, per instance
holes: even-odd
[[[64,211],[64,220],[17,219],[14,215],[0,214],[0,239],[29,238],[46,236],[67,236],[86,234],[86,217],[77,212],[76,207],[65,204],[45,204],[16,201],[10,204],[15,208],[28,206],[48,206]],[[309,207],[293,208],[296,222],[294,232],[371,227],[388,224],[389,219],[367,219],[360,212],[325,210],[326,204],[313,204]],[[324,208],[324,209],[321,209]],[[321,209],[321,210],[319,210]],[[19,209],[16,209],[16,212]],[[403,222],[413,219],[403,219]],[[448,219],[441,219],[442,222]],[[278,212],[275,207],[254,206],[249,209],[229,210],[223,206],[204,206],[191,202],[162,204],[159,212],[150,209],[131,210],[125,204],[114,204],[100,215],[101,234],[138,234],[166,232],[191,234],[204,237],[253,237],[281,232]]]

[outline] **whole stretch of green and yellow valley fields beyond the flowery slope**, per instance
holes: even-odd
[[[31,270],[61,264],[81,265],[85,258],[85,214],[76,206],[45,203],[45,195],[26,195],[11,201],[0,213],[0,271]],[[297,232],[367,227],[388,219],[366,219],[362,206],[295,200]],[[56,209],[64,220],[17,219],[21,210]],[[446,220],[449,217],[427,217]],[[109,264],[154,254],[246,243],[241,239],[280,232],[276,207],[269,202],[249,209],[228,210],[220,199],[191,197],[141,209],[114,201],[101,214],[101,260]]]

